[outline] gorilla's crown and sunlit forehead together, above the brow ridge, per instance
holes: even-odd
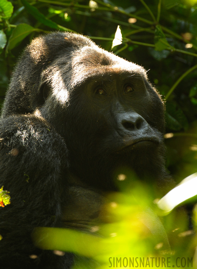
[[[57,84],[55,74],[58,72],[67,89],[87,79],[106,74],[140,74],[147,79],[142,66],[99,48],[92,40],[82,35],[51,33],[47,35],[47,39],[45,36],[34,39],[26,51],[36,65],[39,65],[38,68],[42,68],[40,74],[46,80]],[[67,77],[72,78],[69,86]]]

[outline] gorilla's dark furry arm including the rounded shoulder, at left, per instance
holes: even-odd
[[[68,153],[42,117],[13,115],[0,126],[0,185],[11,197],[11,204],[0,210],[0,261],[3,265],[11,259],[16,266],[16,261],[30,260],[31,250],[39,254],[30,243],[33,228],[60,221],[61,203],[66,204],[62,196],[67,197],[61,173],[68,167]]]

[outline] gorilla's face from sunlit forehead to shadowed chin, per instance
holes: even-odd
[[[100,48],[75,52],[71,67],[61,61],[61,94],[51,82],[43,109],[49,107],[49,121],[54,104],[59,111],[52,121],[66,141],[71,170],[105,189],[121,167],[155,180],[163,170],[164,106],[145,70]]]

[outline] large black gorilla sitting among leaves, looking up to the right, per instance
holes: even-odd
[[[35,227],[90,231],[124,169],[168,180],[165,108],[146,73],[75,33],[24,50],[0,119],[0,187],[11,197],[0,209],[2,268],[71,268],[72,253],[34,246]]]

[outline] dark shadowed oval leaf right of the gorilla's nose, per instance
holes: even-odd
[[[181,129],[188,129],[188,121],[176,103],[166,103],[166,123],[169,129],[173,131],[180,131]]]

